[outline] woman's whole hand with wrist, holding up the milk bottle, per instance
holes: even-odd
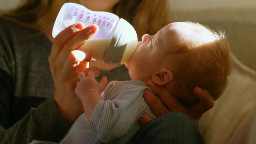
[[[96,76],[99,74],[97,68],[88,68],[89,54],[78,50],[97,32],[96,25],[84,28],[82,23],[77,23],[62,30],[52,44],[48,60],[56,88],[54,100],[60,114],[70,122],[83,111],[82,102],[75,94],[78,73],[93,71]]]

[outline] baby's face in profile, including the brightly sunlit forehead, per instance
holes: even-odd
[[[168,53],[175,52],[180,44],[195,37],[198,33],[196,27],[187,22],[174,22],[166,25],[155,35],[145,34],[126,67],[132,80],[144,82],[151,79],[157,70],[170,67],[173,63]],[[172,71],[172,70],[171,70]]]

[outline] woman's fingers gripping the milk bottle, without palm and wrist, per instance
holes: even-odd
[[[74,55],[70,54],[70,52],[80,48],[86,40],[98,32],[97,25],[91,25],[82,30],[74,28],[80,24],[81,23],[75,24],[73,27],[70,26],[60,32],[60,39],[65,36],[62,40],[58,40],[58,36],[60,36],[60,34],[58,34],[54,39],[55,42],[52,45],[52,52],[49,56],[49,61],[56,61],[56,68],[65,67],[64,64],[66,64],[65,70],[74,70],[73,67],[74,65],[78,65],[79,60],[77,60]],[[82,28],[82,26],[80,27]]]

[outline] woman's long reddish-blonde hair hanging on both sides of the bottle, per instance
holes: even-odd
[[[40,15],[34,23],[24,23],[1,16],[22,26],[45,32],[53,28],[58,12],[66,2],[71,0],[24,0],[18,8],[8,12],[11,17]],[[72,0],[72,2],[85,5],[84,0]],[[167,0],[121,0],[114,6],[114,14],[132,24],[140,40],[143,34],[155,34],[169,23],[169,8]]]

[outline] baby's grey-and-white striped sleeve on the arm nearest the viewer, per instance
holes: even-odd
[[[110,142],[127,134],[149,108],[142,97],[146,88],[126,84],[118,86],[115,91],[107,92],[111,96],[106,101],[98,102],[88,123],[88,128],[98,140]]]

